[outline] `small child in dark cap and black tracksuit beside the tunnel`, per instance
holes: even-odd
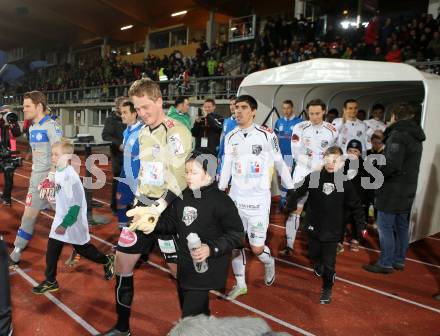
[[[347,144],[347,154],[349,155],[349,159],[345,161],[344,175],[353,183],[359,200],[361,201],[362,209],[365,213],[365,219],[367,219],[368,198],[371,192],[374,192],[374,190],[365,189],[362,186],[362,178],[371,177],[370,174],[365,170],[364,160],[362,159],[362,143],[356,139],[350,140]],[[345,228],[347,224],[351,224],[352,230],[350,251],[358,252],[359,240],[362,237],[361,232],[365,229],[365,227],[363,224],[362,226],[356,225],[356,221],[353,217],[353,211],[351,211],[350,209],[346,209],[345,214],[344,230],[342,231],[340,244],[344,243]],[[340,247],[338,248],[338,250],[340,250]]]

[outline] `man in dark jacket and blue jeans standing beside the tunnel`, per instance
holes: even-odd
[[[409,244],[409,216],[417,190],[422,142],[425,133],[412,119],[414,110],[400,104],[392,110],[392,125],[384,133],[384,182],[376,192],[380,257],[366,271],[392,273],[403,270]]]

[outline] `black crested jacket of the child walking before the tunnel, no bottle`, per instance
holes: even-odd
[[[310,184],[311,180],[319,180],[319,183]],[[336,242],[341,239],[346,209],[352,211],[357,227],[365,226],[365,214],[353,183],[349,180],[341,181],[342,188],[339,191],[337,185],[335,174],[323,168],[320,172],[307,175],[302,185],[288,196],[288,204],[292,204],[294,208],[297,199],[309,193],[306,203],[306,231],[322,242]],[[289,205],[288,207],[289,210],[292,209]]]

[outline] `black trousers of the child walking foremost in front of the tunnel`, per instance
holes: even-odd
[[[338,242],[323,242],[309,236],[309,257],[322,267],[323,288],[332,288],[335,276],[336,249]]]

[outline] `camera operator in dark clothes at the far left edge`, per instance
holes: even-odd
[[[0,110],[0,149],[5,156],[2,156],[0,161],[0,169],[3,171],[5,176],[5,184],[3,189],[3,204],[11,205],[11,193],[12,186],[14,183],[14,170],[16,166],[11,164],[6,164],[3,162],[5,158],[14,157],[14,154],[8,154],[9,151],[17,150],[17,140],[16,138],[21,135],[20,126],[18,125],[18,116],[11,112],[9,108],[3,107]]]

